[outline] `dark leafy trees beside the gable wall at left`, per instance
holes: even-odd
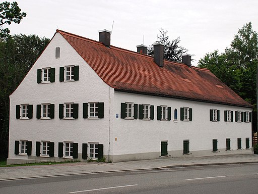
[[[28,73],[48,38],[14,35],[0,41],[0,158],[7,157],[9,137],[9,95]]]

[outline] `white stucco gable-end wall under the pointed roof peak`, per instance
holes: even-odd
[[[55,59],[55,48],[60,47],[60,58]],[[79,65],[79,80],[59,82],[59,67]],[[55,68],[55,82],[37,83],[37,69]],[[35,156],[36,141],[54,142],[54,157],[58,155],[58,142],[78,142],[78,153],[82,153],[82,143],[103,143],[104,155],[108,153],[109,138],[109,90],[113,90],[79,56],[72,46],[59,34],[53,37],[45,51],[36,61],[22,83],[10,96],[10,138],[9,158],[24,158],[14,154],[15,140],[32,141],[32,156]],[[83,119],[82,105],[88,102],[104,102],[104,118]],[[54,119],[36,119],[36,105],[55,105]],[[59,119],[59,104],[78,103],[79,118]],[[32,104],[33,118],[16,119],[16,105]]]

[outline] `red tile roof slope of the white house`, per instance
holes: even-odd
[[[159,67],[151,56],[57,32],[115,90],[252,108],[208,69],[167,60]]]

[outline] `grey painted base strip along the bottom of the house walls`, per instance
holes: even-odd
[[[182,154],[182,150],[169,151],[167,156],[160,156],[160,152],[153,153],[139,153],[139,154],[125,154],[125,155],[114,155],[109,156],[109,161],[112,162],[124,162],[124,161],[134,161],[134,160],[149,160],[158,158],[190,158],[190,157],[201,157],[201,156],[218,156],[218,155],[233,155],[233,154],[253,154],[252,149],[242,149],[242,150],[230,150],[219,149],[217,152],[212,152],[211,150],[204,151],[190,151],[189,154]],[[21,157],[21,158],[19,158]],[[108,162],[108,156],[106,157],[106,162]],[[26,164],[26,163],[39,163],[39,162],[66,162],[66,161],[81,161],[87,162],[87,160],[82,159],[82,154],[78,154],[77,159],[64,159],[58,157],[36,157],[36,156],[17,156],[17,158],[8,158],[7,164]]]

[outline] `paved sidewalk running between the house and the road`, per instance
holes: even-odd
[[[60,175],[144,170],[186,166],[258,163],[258,155],[226,155],[193,158],[160,158],[117,163],[78,162],[55,165],[0,167],[0,181]]]

